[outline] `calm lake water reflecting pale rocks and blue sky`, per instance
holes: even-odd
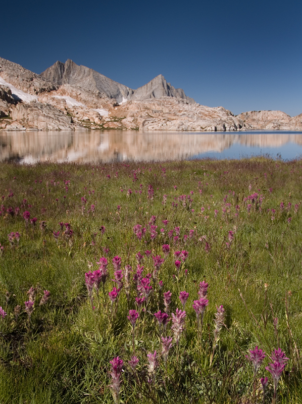
[[[0,160],[97,163],[302,157],[302,132],[62,131],[0,132]]]

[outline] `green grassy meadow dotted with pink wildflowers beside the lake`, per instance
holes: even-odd
[[[302,402],[301,184],[260,157],[1,164],[0,402]]]

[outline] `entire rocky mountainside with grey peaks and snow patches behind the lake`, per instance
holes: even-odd
[[[40,75],[0,58],[0,130],[302,130],[302,114],[234,116],[196,104],[159,75],[133,90],[71,60]]]

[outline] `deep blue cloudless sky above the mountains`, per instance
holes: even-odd
[[[72,59],[234,114],[302,113],[300,0],[16,0],[1,16],[0,56],[36,73]]]

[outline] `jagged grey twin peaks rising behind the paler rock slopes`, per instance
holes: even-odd
[[[189,104],[195,103],[193,98],[185,95],[183,89],[174,88],[170,83],[167,83],[165,77],[161,74],[142,87],[133,90],[93,69],[78,66],[68,59],[65,63],[57,61],[53,66],[42,72],[40,76],[58,85],[71,84],[85,90],[98,92],[103,96],[115,98],[118,103],[131,99],[142,100],[164,96],[182,98],[187,100]]]

